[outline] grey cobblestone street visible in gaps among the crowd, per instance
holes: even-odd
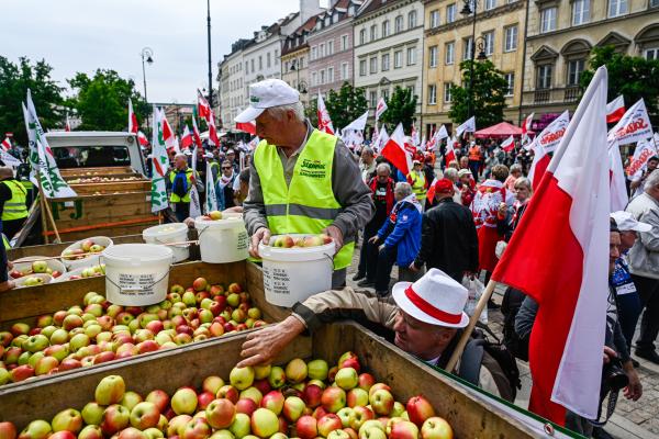
[[[348,286],[359,289],[353,281],[359,262],[360,246],[356,248],[353,264],[348,268]],[[392,283],[398,279],[398,268],[391,272]],[[498,288],[494,302],[501,303],[504,288]],[[498,336],[502,337],[503,315],[500,311],[489,311],[488,326]],[[618,439],[659,439],[659,365],[637,359],[640,368],[637,370],[643,383],[643,396],[637,402],[629,402],[621,395],[614,415],[611,417],[605,430]],[[517,393],[515,404],[526,408],[530,393],[530,373],[528,363],[517,360],[522,374],[522,390]]]

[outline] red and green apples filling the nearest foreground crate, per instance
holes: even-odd
[[[349,365],[347,365],[349,364]],[[2,439],[450,439],[451,426],[418,395],[405,404],[393,391],[360,373],[346,352],[325,360],[291,360],[283,367],[234,368],[206,376],[201,389],[139,395],[120,375],[103,378],[83,407],[35,419],[20,434],[0,423]]]

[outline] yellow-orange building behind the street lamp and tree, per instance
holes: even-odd
[[[557,1],[554,1],[557,2]],[[566,0],[567,2],[567,0]],[[517,124],[524,59],[524,23],[526,0],[477,0],[473,13],[461,14],[465,2],[460,0],[425,0],[424,68],[422,124],[429,134],[445,124],[450,131],[448,111],[451,105],[450,86],[461,82],[460,63],[474,57],[481,49],[509,82],[504,119]],[[474,24],[476,23],[476,24]],[[476,35],[473,44],[472,35]],[[478,121],[477,121],[478,124]]]

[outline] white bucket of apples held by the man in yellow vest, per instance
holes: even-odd
[[[304,234],[289,234],[302,237]],[[270,237],[270,244],[277,236]],[[263,259],[266,301],[272,305],[291,307],[297,302],[332,289],[334,243],[316,247],[281,248],[259,244]]]

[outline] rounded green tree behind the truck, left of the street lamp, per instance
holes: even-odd
[[[125,80],[114,70],[98,69],[90,78],[78,72],[68,80],[76,95],[67,103],[75,109],[82,123],[81,131],[124,131],[129,125],[129,98],[137,121],[144,125],[150,112],[148,104],[135,89],[132,79]]]

